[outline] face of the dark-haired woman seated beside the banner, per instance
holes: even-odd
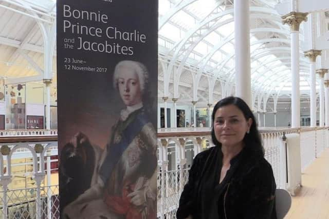
[[[214,132],[223,146],[242,146],[242,140],[252,124],[235,105],[218,108],[214,118]]]

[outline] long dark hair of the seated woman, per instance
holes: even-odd
[[[235,96],[229,96],[224,99],[221,99],[218,101],[218,103],[214,106],[214,110],[212,111],[212,121],[215,119],[215,114],[216,111],[224,106],[228,105],[234,105],[237,108],[239,108],[243,115],[245,116],[246,120],[251,118],[252,124],[249,130],[249,134],[246,134],[245,137],[243,138],[243,142],[245,143],[245,147],[252,150],[255,153],[259,153],[260,155],[264,156],[264,148],[262,146],[262,140],[261,140],[261,135],[257,129],[256,126],[256,120],[251,112],[250,108],[246,104],[246,102],[243,101],[243,99]],[[214,131],[214,126],[212,125],[211,128],[211,139],[214,145],[218,147],[222,147],[222,144],[217,141],[216,136],[215,136],[215,131]]]

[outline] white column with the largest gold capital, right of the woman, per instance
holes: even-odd
[[[300,127],[300,87],[299,87],[299,25],[307,21],[307,13],[295,12],[295,4],[291,4],[291,11],[282,16],[283,24],[290,26],[291,47],[291,128]]]

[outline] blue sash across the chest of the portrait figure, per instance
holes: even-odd
[[[141,131],[143,126],[149,122],[145,113],[138,113],[133,120],[121,133],[121,140],[115,143],[115,137],[110,143],[105,160],[99,170],[99,175],[103,183],[107,183],[109,176],[111,176],[113,169],[121,158],[121,155]]]

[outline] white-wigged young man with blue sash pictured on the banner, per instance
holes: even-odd
[[[143,64],[117,64],[114,87],[126,107],[112,128],[95,173],[97,182],[64,209],[64,218],[156,217],[157,139],[143,105],[147,83],[148,71]],[[81,134],[79,139],[88,142]]]

